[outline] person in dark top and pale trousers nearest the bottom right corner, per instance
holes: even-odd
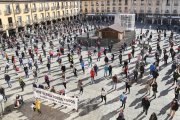
[[[171,102],[170,113],[168,115],[171,116],[171,118],[173,118],[175,113],[176,113],[176,111],[178,110],[178,108],[179,108],[178,101],[177,101],[177,99],[174,99]]]

